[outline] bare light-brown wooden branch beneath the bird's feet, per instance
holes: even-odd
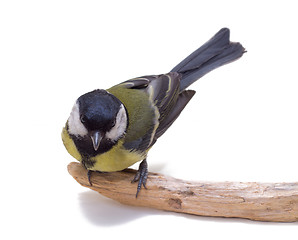
[[[89,185],[86,169],[68,165],[69,173],[82,186],[118,202],[200,216],[236,217],[258,221],[298,221],[298,182],[190,182],[149,173],[147,190],[136,199],[134,170],[92,173]]]

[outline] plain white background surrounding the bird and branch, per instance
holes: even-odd
[[[149,169],[297,181],[297,22],[295,1],[1,1],[1,239],[295,239],[295,223],[106,199],[68,174],[74,159],[60,132],[81,94],[168,72],[229,27],[248,52],[191,86],[197,94],[151,150]]]

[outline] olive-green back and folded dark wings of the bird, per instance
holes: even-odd
[[[108,89],[128,111],[127,149],[147,150],[171,126],[194,95],[179,89],[178,73],[139,77]]]

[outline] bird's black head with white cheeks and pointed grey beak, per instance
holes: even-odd
[[[128,117],[118,98],[105,90],[94,90],[77,99],[67,125],[81,151],[96,153],[108,150],[124,136]]]

